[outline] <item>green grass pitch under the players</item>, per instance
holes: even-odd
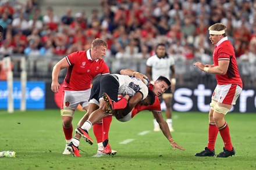
[[[74,114],[73,125],[83,116]],[[172,133],[176,143],[186,150],[173,150],[162,132],[153,132],[152,114],[144,111],[129,122],[113,118],[109,139],[113,156],[93,158],[97,142],[92,129],[93,146],[80,141],[82,157],[62,155],[65,138],[59,110],[0,111],[0,151],[16,151],[16,158],[0,158],[0,169],[256,169],[256,114],[226,115],[236,155],[228,158],[195,157],[207,146],[207,113],[173,113]],[[145,135],[140,135],[140,132]],[[134,139],[121,144],[126,139]],[[216,154],[222,151],[219,135]]]

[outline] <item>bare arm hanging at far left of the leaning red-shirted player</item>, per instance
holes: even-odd
[[[52,69],[52,85],[51,90],[54,93],[59,92],[59,71],[61,71],[63,68],[69,67],[69,63],[67,62],[66,57],[64,57],[62,60],[60,60],[58,63],[55,64],[54,68]]]

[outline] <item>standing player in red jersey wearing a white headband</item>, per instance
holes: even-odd
[[[226,158],[236,152],[231,142],[229,126],[225,121],[225,115],[236,104],[243,82],[237,68],[236,56],[231,42],[227,39],[222,23],[216,23],[209,27],[209,39],[215,45],[213,53],[214,64],[194,63],[205,73],[215,74],[217,85],[212,94],[209,110],[208,144],[196,157],[212,157],[215,155],[215,142],[218,132],[224,143],[223,151],[216,157]]]

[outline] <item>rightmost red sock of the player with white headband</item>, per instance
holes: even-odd
[[[227,125],[227,122],[219,128],[219,133],[221,133],[221,138],[224,142],[224,147],[226,150],[232,150],[233,146],[231,143],[230,133],[229,133],[229,126]]]

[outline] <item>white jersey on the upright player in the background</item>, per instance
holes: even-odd
[[[165,58],[158,58],[157,55],[153,55],[148,58],[147,66],[152,67],[152,80],[156,81],[157,78],[162,75],[170,80],[170,66],[175,64],[175,60],[172,56],[168,55]]]

